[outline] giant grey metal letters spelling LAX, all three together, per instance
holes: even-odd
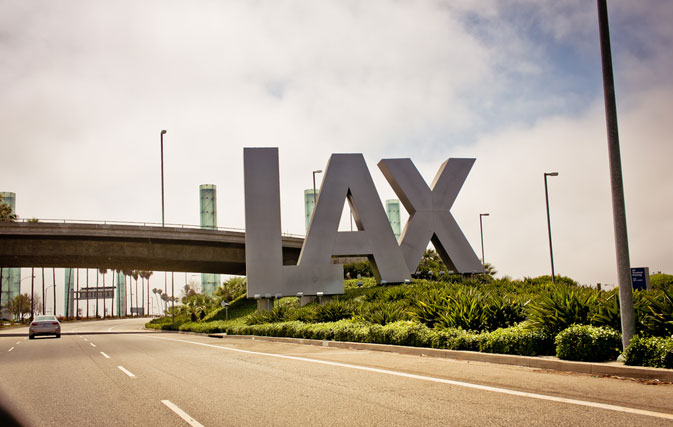
[[[343,266],[333,256],[366,256],[379,283],[400,283],[429,241],[459,273],[483,267],[449,212],[474,159],[450,159],[432,189],[409,159],[386,159],[379,168],[409,212],[401,247],[362,154],[333,154],[297,265],[283,265],[278,148],[245,148],[245,259],[248,296],[334,295],[344,292]],[[338,231],[344,199],[358,231]],[[401,250],[400,250],[401,249]]]

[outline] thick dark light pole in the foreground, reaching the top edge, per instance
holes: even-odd
[[[610,157],[612,220],[615,233],[617,280],[619,281],[619,305],[622,319],[622,344],[624,345],[624,348],[626,348],[631,342],[631,338],[633,338],[636,329],[635,314],[633,310],[633,284],[631,283],[631,260],[629,259],[629,239],[626,232],[626,208],[624,206],[622,160],[619,150],[615,81],[612,74],[608,6],[605,0],[597,0],[597,6],[598,29],[601,42],[601,63],[603,68],[605,124],[608,132],[608,156]]]

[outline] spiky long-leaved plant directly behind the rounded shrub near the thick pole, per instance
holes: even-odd
[[[549,286],[528,304],[528,326],[556,335],[573,324],[589,324],[597,294],[589,288]]]

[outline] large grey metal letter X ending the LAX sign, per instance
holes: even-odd
[[[428,187],[410,159],[383,159],[379,162],[379,169],[409,212],[400,249],[410,273],[416,271],[429,241],[449,269],[458,273],[484,271],[450,212],[474,160],[445,161],[437,171],[432,188]]]

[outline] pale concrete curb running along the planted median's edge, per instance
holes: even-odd
[[[626,366],[613,363],[573,362],[556,358],[542,358],[533,356],[514,356],[510,354],[479,353],[463,350],[443,350],[424,347],[407,347],[391,344],[372,344],[349,341],[326,341],[306,338],[266,337],[257,335],[226,335],[226,334],[198,334],[211,338],[237,338],[255,341],[282,342],[291,344],[315,345],[331,348],[345,348],[352,350],[382,351],[410,356],[429,356],[444,359],[465,360],[470,362],[496,363],[500,365],[515,365],[528,368],[550,369],[554,371],[574,372],[589,375],[608,375],[639,380],[659,380],[673,382],[673,370],[663,368],[649,368],[644,366]]]

